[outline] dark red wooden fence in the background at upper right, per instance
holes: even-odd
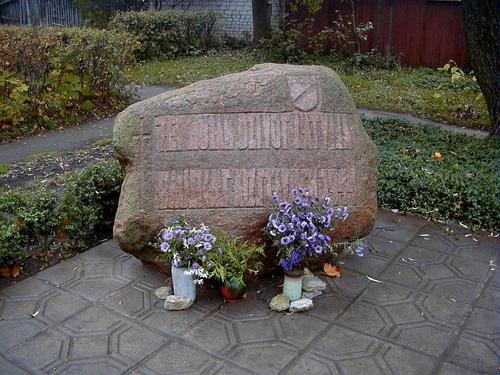
[[[323,9],[313,15],[315,31],[331,25],[336,10],[348,14],[345,2],[325,0]],[[468,63],[460,1],[359,0],[355,14],[356,23],[373,23],[368,39],[361,41],[363,52],[390,49],[410,66],[438,67],[450,59],[459,66]],[[307,14],[299,11],[295,16]]]

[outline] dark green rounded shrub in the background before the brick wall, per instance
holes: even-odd
[[[109,27],[139,40],[140,59],[171,59],[220,47],[217,19],[217,13],[210,11],[118,12]]]

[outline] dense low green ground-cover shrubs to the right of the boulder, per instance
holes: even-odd
[[[381,158],[380,206],[498,231],[498,139],[397,120],[365,119],[363,123]]]

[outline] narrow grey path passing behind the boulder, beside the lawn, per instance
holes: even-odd
[[[144,100],[173,88],[162,86],[146,86],[138,90],[138,100]],[[360,109],[359,113],[368,118],[395,118],[410,121],[415,124],[434,125],[442,129],[464,133],[477,137],[487,137],[488,132],[482,130],[460,128],[458,126],[443,124],[430,120],[421,119],[401,113],[378,111],[371,109]],[[85,146],[95,143],[99,139],[111,138],[113,136],[113,124],[115,118],[107,118],[87,124],[64,129],[59,132],[49,132],[21,139],[16,142],[0,145],[0,164],[12,164],[25,160],[28,156],[50,151],[72,151],[79,150]]]

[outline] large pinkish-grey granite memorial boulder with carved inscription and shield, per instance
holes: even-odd
[[[377,151],[325,67],[262,64],[158,95],[120,113],[113,143],[125,169],[114,235],[146,262],[178,215],[263,240],[272,192],[293,187],[349,208],[334,238],[374,224]]]

